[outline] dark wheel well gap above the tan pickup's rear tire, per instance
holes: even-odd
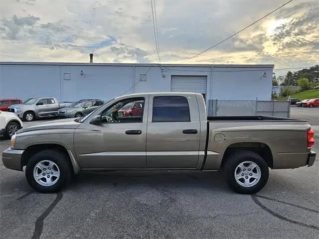
[[[229,145],[223,155],[221,167],[223,167],[224,163],[228,155],[235,152],[236,150],[249,150],[255,153],[258,153],[263,159],[267,162],[268,167],[273,167],[273,154],[269,148],[269,146],[265,143],[260,142],[241,142],[241,143],[233,143]]]

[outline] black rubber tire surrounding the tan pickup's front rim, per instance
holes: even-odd
[[[42,160],[50,160],[54,162],[59,168],[59,172],[60,172],[59,178],[57,179],[55,184],[51,186],[42,186],[41,184],[36,182],[33,177],[33,169],[35,165]],[[54,150],[54,149],[46,149],[46,150],[37,152],[30,157],[26,165],[25,177],[29,185],[38,192],[41,192],[41,193],[58,192],[69,183],[72,177],[72,169],[69,163],[69,158],[64,152],[61,152],[59,150]]]

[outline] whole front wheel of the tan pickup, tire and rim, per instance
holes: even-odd
[[[26,165],[29,185],[41,193],[60,191],[71,179],[71,167],[65,153],[46,149],[32,155]]]

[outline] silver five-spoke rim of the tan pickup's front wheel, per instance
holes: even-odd
[[[60,169],[51,160],[42,160],[34,166],[33,178],[38,184],[49,187],[59,180]]]

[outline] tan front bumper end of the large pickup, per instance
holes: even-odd
[[[7,148],[2,153],[2,162],[6,168],[22,171],[22,154],[24,150]]]

